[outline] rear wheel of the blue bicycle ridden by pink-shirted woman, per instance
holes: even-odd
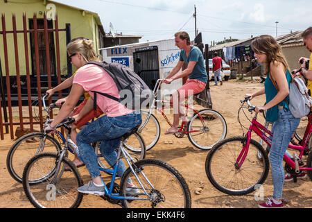
[[[182,175],[170,164],[146,159],[132,164],[121,178],[120,195],[127,196],[129,181],[139,188],[138,200],[123,200],[124,207],[134,208],[190,208],[191,193]],[[135,172],[135,173],[134,173]],[[136,176],[139,180],[137,180]]]

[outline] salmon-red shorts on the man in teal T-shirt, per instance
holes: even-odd
[[[187,83],[182,85],[179,89],[177,89],[177,92],[179,92],[181,98],[186,98],[187,96],[191,94],[198,94],[202,92],[206,87],[206,83],[197,80],[197,79],[187,79]]]

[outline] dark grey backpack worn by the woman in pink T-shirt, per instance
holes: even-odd
[[[134,71],[125,65],[121,65],[117,62],[107,63],[107,62],[95,62],[90,61],[87,64],[94,64],[102,67],[107,74],[109,74],[119,91],[120,98],[116,98],[110,94],[105,94],[103,92],[94,92],[94,110],[96,110],[96,94],[101,94],[114,101],[125,105],[130,110],[141,110],[141,108],[146,108],[153,99],[153,94],[150,88],[146,85],[144,80],[142,80]]]

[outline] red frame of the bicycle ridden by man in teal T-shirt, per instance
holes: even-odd
[[[163,100],[158,100],[158,99],[155,99],[156,96],[157,96],[157,91],[159,90],[159,87],[162,83],[162,80],[163,79],[158,79],[156,84],[155,84],[155,87],[153,89],[153,102],[151,103],[152,105],[150,105],[150,108],[148,110],[148,116],[146,117],[144,123],[142,123],[141,127],[139,128],[139,133],[141,133],[141,131],[143,130],[143,128],[146,126],[146,124],[148,123],[148,120],[150,119],[150,114],[152,113],[152,110],[153,109],[156,109],[160,114],[162,114],[162,116],[164,117],[164,119],[166,120],[166,122],[168,123],[169,126],[172,126],[171,122],[168,120],[168,117],[166,117],[166,114],[164,114],[163,110],[166,109],[166,108],[172,108],[173,107],[173,102],[171,101],[163,101]],[[162,103],[162,108],[157,108],[154,104],[156,103]],[[169,105],[165,106],[166,103],[169,103]],[[187,113],[188,113],[188,110],[191,109],[193,112],[196,112],[196,114],[198,114],[198,117],[200,118],[200,121],[202,121],[202,124],[205,126],[205,128],[207,127],[206,124],[205,124],[205,121],[204,119],[202,119],[202,117],[200,116],[200,114],[194,110],[193,108],[189,107],[189,105],[185,105],[185,108],[187,108],[185,114],[184,114],[184,118],[187,117]],[[200,130],[191,130],[191,131],[184,131],[184,125],[185,125],[185,122],[186,121],[182,121],[181,123],[181,128],[178,130],[177,133],[196,133],[196,132],[200,132]]]

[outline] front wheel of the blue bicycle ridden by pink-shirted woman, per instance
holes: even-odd
[[[75,208],[83,200],[83,194],[77,191],[83,186],[83,180],[75,164],[63,157],[57,172],[59,161],[59,155],[55,153],[40,153],[26,164],[23,187],[34,207]],[[68,170],[64,171],[64,167]]]

